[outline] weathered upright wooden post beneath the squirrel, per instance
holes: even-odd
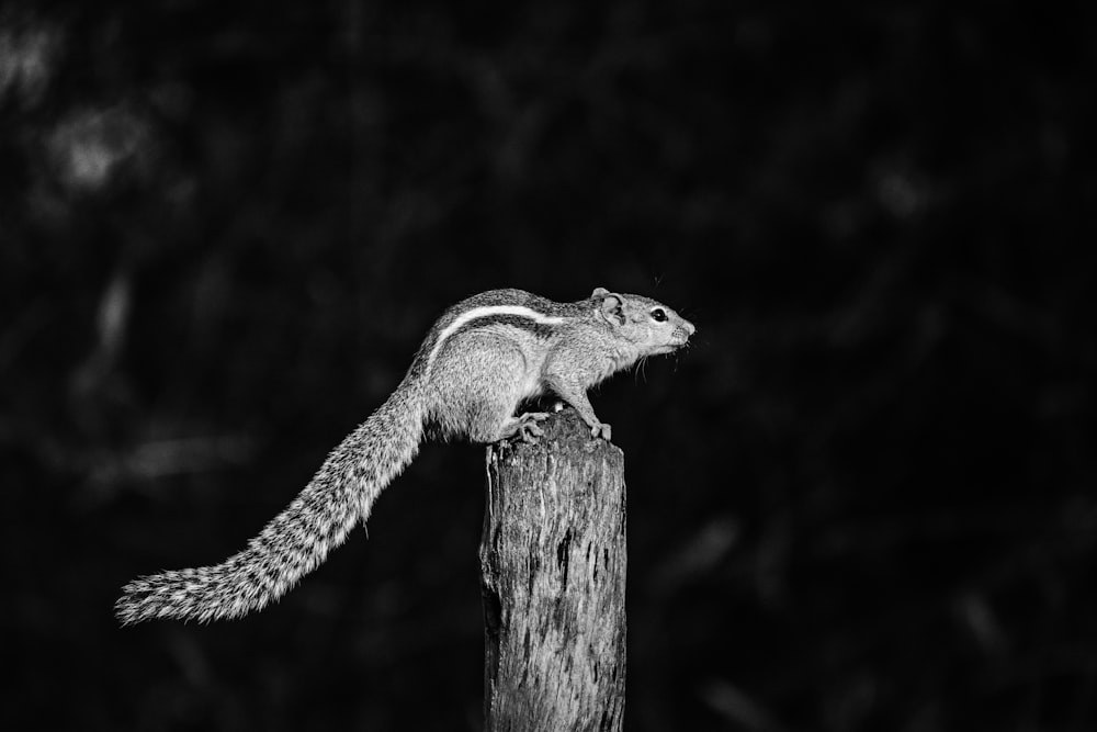
[[[619,732],[625,680],[624,454],[573,409],[490,446],[480,541],[488,732]]]

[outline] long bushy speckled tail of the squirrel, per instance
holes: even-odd
[[[218,620],[284,595],[340,545],[419,451],[426,417],[420,382],[405,380],[331,451],[304,491],[220,564],[138,577],[114,606],[123,626],[154,618]]]

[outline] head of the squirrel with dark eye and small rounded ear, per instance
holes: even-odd
[[[685,346],[697,330],[692,323],[651,297],[596,288],[590,299],[597,306],[597,317],[614,335],[632,344],[641,357],[670,353]]]

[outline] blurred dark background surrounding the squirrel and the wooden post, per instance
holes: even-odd
[[[483,450],[279,605],[121,630],[518,286],[659,299],[593,395],[627,729],[1097,729],[1094,11],[0,9],[0,724],[477,730]],[[979,7],[979,5],[982,7]]]

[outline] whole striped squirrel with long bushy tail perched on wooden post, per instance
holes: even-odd
[[[453,305],[427,334],[396,391],[328,454],[319,471],[246,549],[220,564],[138,577],[122,588],[123,626],[154,618],[238,618],[280,598],[353,527],[411,462],[425,435],[490,443],[535,441],[546,413],[514,416],[553,392],[575,407],[593,438],[610,439],[587,390],[637,361],[670,353],[695,328],[640,295],[598,288],[556,303],[493,290]]]

